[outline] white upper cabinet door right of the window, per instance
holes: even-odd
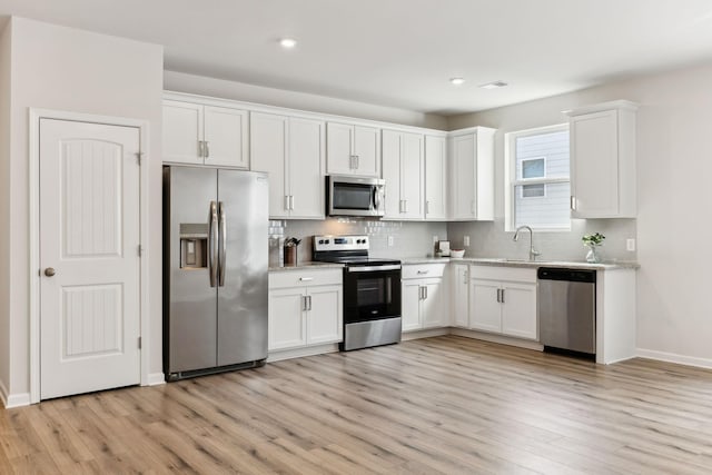
[[[617,112],[606,110],[572,117],[570,130],[572,216],[617,216]]]

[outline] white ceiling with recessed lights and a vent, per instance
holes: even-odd
[[[2,0],[0,14],[164,44],[167,70],[439,115],[712,61],[709,0]]]

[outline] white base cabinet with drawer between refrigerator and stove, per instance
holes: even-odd
[[[343,339],[342,270],[269,274],[269,352]]]

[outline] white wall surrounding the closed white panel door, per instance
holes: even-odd
[[[11,20],[9,345],[11,396],[29,392],[29,209],[28,108],[148,120],[150,216],[161,215],[160,125],[162,47],[57,27],[22,18]],[[6,128],[3,128],[6,129]],[[151,220],[150,367],[161,372],[161,222]],[[0,238],[1,240],[1,238]],[[3,290],[0,290],[3,291]],[[1,375],[1,374],[0,374]]]

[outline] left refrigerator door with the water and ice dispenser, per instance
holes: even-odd
[[[164,172],[164,240],[168,249],[164,356],[170,374],[210,368],[217,363],[217,284],[210,286],[217,247],[217,170],[170,167]]]

